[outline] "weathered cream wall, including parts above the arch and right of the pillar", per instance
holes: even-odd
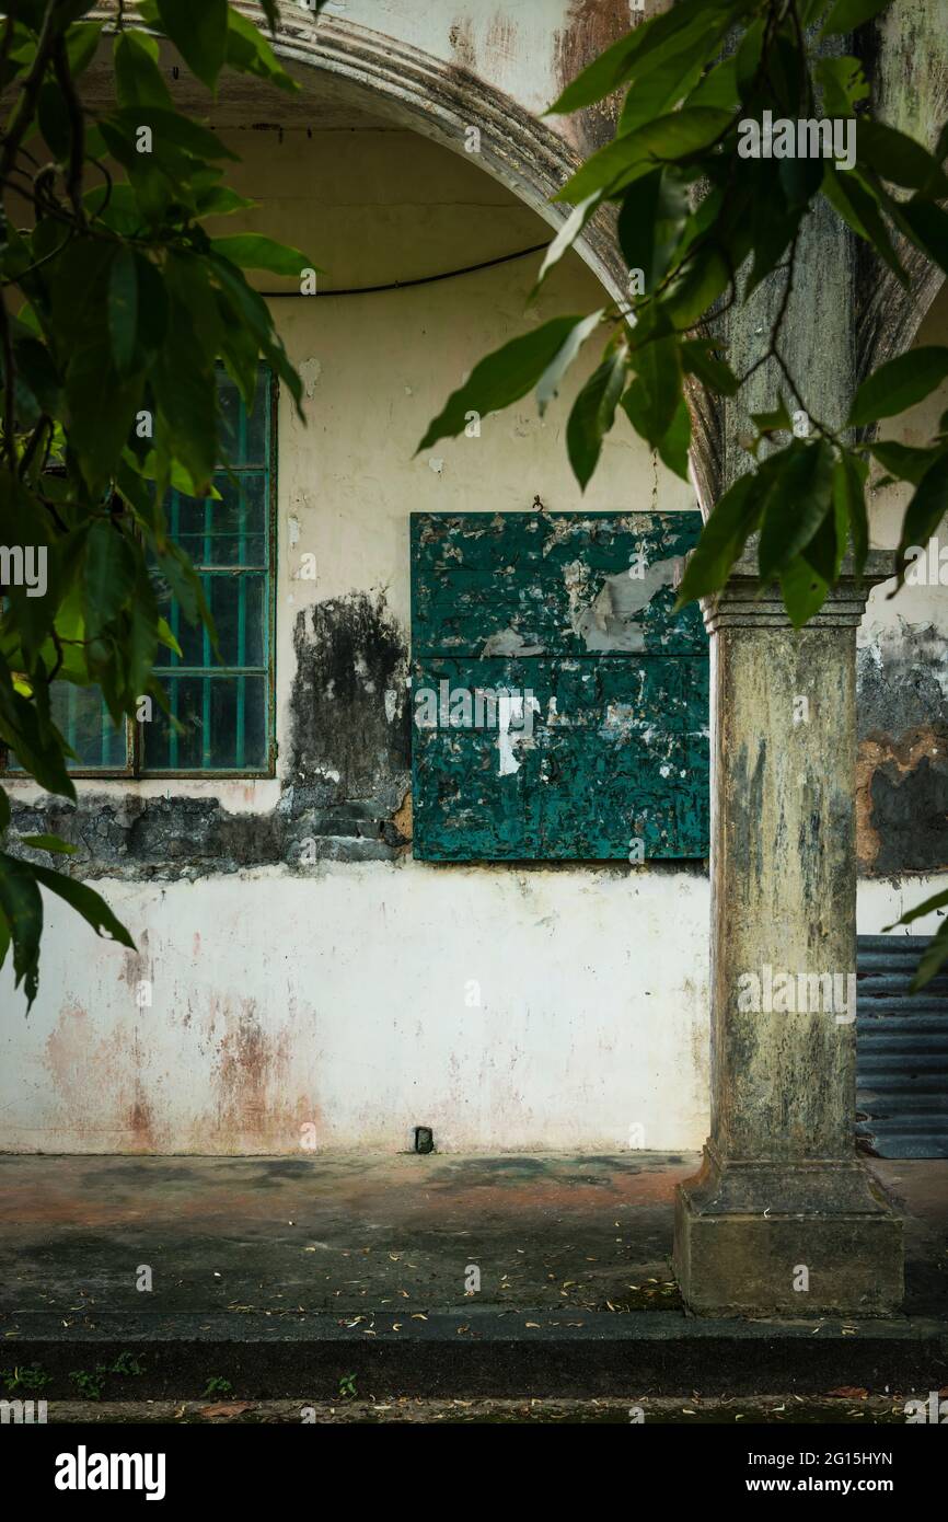
[[[622,5],[368,0],[329,14],[476,72],[525,111],[610,41]],[[650,14],[650,6],[645,14]],[[542,242],[545,225],[464,154],[367,120],[320,88],[234,116],[253,225],[306,248],[324,289],[435,274]],[[323,91],[323,93],[320,93]],[[555,123],[583,149],[606,119]],[[312,134],[312,135],[310,135]],[[572,134],[572,137],[571,137]],[[231,224],[233,225],[233,224]],[[228,228],[230,230],[230,228]],[[0,1146],[46,1151],[692,1148],[708,1128],[708,881],[686,871],[429,866],[411,860],[408,513],[673,511],[694,493],[621,423],[580,499],[569,396],[526,402],[412,460],[429,417],[522,329],[537,256],[464,279],[274,304],[309,426],[280,403],[278,770],[247,782],[84,782],[49,826],[128,921],[138,956],[49,904],[27,1020],[2,976]],[[265,286],[280,282],[265,282]],[[601,301],[563,260],[537,312]],[[948,333],[937,304],[921,341]],[[590,356],[592,362],[592,356]],[[580,367],[580,374],[587,367]],[[892,437],[915,440],[939,399]],[[919,435],[921,437],[921,435]],[[893,493],[873,539],[895,543]],[[317,580],[303,580],[315,554]],[[878,589],[860,632],[860,930],[948,872],[945,592]],[[388,699],[388,700],[387,700]],[[33,788],[17,785],[17,823]],[[304,866],[300,843],[317,842]],[[933,927],[921,927],[933,928]],[[138,985],[151,1006],[138,1006]],[[478,988],[479,985],[479,988]],[[479,1000],[479,1003],[478,1003]],[[312,1131],[301,1131],[312,1126]],[[641,1128],[641,1129],[636,1129]]]

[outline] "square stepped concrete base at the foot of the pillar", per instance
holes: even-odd
[[[898,1315],[902,1222],[857,1158],[721,1161],[709,1145],[677,1189],[674,1272],[695,1315]]]

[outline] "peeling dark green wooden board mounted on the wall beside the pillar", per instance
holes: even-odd
[[[695,604],[673,613],[700,528],[700,513],[412,513],[415,857],[708,854],[708,639]],[[507,734],[499,689],[519,694]]]

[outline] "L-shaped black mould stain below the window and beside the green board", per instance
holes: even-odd
[[[294,645],[289,766],[274,810],[228,813],[215,796],[110,798],[84,787],[76,805],[52,796],[15,804],[15,831],[70,840],[79,851],[65,869],[82,878],[300,868],[306,843],[315,858],[396,860],[411,819],[406,636],[383,594],[353,592],[301,610]]]

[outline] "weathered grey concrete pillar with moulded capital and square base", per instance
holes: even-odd
[[[756,557],[706,609],[712,1117],[674,1245],[698,1313],[902,1300],[901,1221],[854,1140],[855,630],[887,559],[860,591],[843,577],[799,633],[776,589],[758,595]]]

